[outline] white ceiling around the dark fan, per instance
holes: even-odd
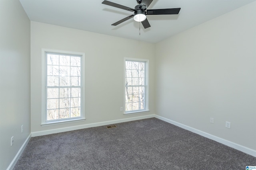
[[[144,29],[133,19],[117,26],[132,12],[102,4],[103,0],[20,0],[31,21],[156,43],[174,34],[235,10],[255,0],[153,0],[148,9],[181,8],[178,15],[147,16]],[[109,0],[130,8],[136,0]],[[140,27],[140,31],[139,31]]]

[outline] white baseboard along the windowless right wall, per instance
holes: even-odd
[[[181,128],[186,129],[186,130],[188,130],[188,131],[191,131],[191,132],[196,133],[196,134],[198,134],[198,135],[201,135],[201,136],[203,136],[203,137],[207,137],[207,138],[212,139],[212,140],[214,140],[214,141],[216,141],[216,142],[218,142],[218,143],[222,143],[222,144],[224,144],[224,145],[227,145],[227,146],[229,146],[229,147],[232,147],[232,148],[234,148],[234,149],[240,150],[240,151],[242,151],[242,152],[244,152],[244,153],[247,153],[247,154],[250,154],[250,155],[256,157],[256,150],[253,150],[253,149],[244,147],[244,146],[242,146],[242,145],[239,145],[239,144],[237,144],[237,143],[233,143],[233,142],[231,142],[231,141],[227,141],[226,139],[222,139],[222,138],[220,138],[220,137],[216,137],[216,136],[214,136],[214,135],[211,135],[211,134],[209,134],[209,133],[200,131],[200,130],[198,130],[198,129],[194,129],[194,128],[189,127],[189,126],[186,126],[186,125],[183,125],[183,124],[178,123],[178,122],[176,122],[176,121],[172,121],[172,120],[170,120],[170,119],[166,119],[166,118],[164,118],[164,117],[162,117],[162,116],[159,116],[159,115],[155,115],[155,117],[156,117],[157,119],[166,121],[166,122],[168,122],[168,123],[171,123],[171,124],[173,124],[173,125],[176,125],[176,126],[178,126],[178,127],[181,127]]]

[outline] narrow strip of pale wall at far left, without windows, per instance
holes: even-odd
[[[18,0],[0,0],[0,16],[0,169],[5,170],[30,135],[30,20]]]

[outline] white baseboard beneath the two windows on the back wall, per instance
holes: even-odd
[[[122,122],[147,119],[147,118],[152,118],[152,117],[155,117],[155,115],[138,116],[138,117],[131,117],[131,118],[126,118],[126,119],[104,121],[104,122],[99,122],[99,123],[90,123],[90,124],[86,124],[86,125],[64,127],[64,128],[52,129],[52,130],[46,130],[46,131],[37,131],[37,132],[32,132],[32,137],[42,136],[42,135],[50,135],[50,134],[61,133],[61,132],[66,132],[66,131],[74,131],[74,130],[85,129],[85,128],[89,128],[89,127],[105,126],[105,125],[111,125],[114,123],[122,123]]]

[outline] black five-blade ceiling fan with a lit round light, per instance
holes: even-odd
[[[147,10],[148,6],[151,4],[153,0],[136,0],[136,1],[138,5],[136,5],[134,9],[126,6],[122,6],[120,4],[116,4],[114,2],[110,2],[107,0],[104,0],[102,4],[114,6],[116,8],[134,12],[134,14],[112,24],[115,26],[126,20],[129,20],[130,18],[133,18],[135,21],[141,22],[143,27],[146,29],[150,27],[150,24],[148,22],[148,19],[146,18],[146,15],[169,15],[169,14],[179,14],[180,12],[180,8]]]

